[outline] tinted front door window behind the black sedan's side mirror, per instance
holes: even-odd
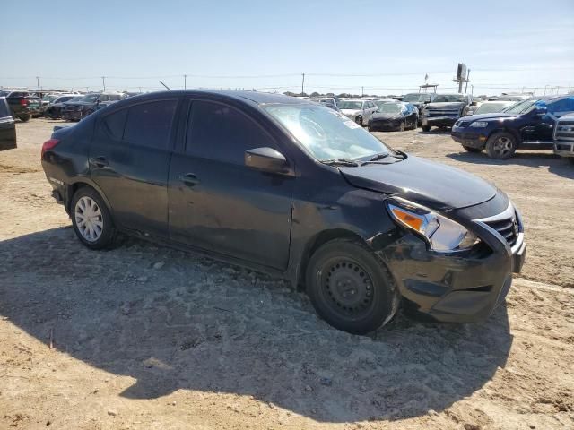
[[[255,122],[218,103],[193,102],[187,127],[187,153],[206,159],[244,164],[246,150],[274,147]]]

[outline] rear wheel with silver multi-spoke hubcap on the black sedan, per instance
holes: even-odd
[[[93,188],[84,186],[74,193],[70,214],[75,235],[83,245],[90,249],[105,249],[114,245],[116,227],[106,203]],[[83,228],[86,224],[81,222],[86,218],[87,227]]]

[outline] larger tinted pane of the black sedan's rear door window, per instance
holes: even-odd
[[[124,140],[151,148],[166,149],[177,105],[177,100],[163,100],[130,107]]]

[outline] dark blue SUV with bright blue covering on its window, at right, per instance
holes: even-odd
[[[573,111],[573,95],[534,97],[501,113],[465,116],[451,135],[465,150],[508,159],[517,149],[552,150],[556,119]]]

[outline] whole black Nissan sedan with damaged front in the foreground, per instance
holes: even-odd
[[[505,193],[286,96],[121,100],[57,130],[41,158],[83,245],[121,231],[283,275],[352,333],[401,302],[438,321],[483,319],[525,259]]]

